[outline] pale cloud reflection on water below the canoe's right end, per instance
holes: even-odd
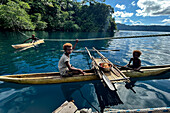
[[[140,109],[169,106],[169,88],[164,89],[161,85],[162,81],[167,83],[169,80],[156,80],[155,83],[152,80],[146,82],[137,81],[134,87],[136,93],[130,92],[130,90],[126,91],[125,87],[120,85],[118,92],[124,104],[113,106],[112,108]]]

